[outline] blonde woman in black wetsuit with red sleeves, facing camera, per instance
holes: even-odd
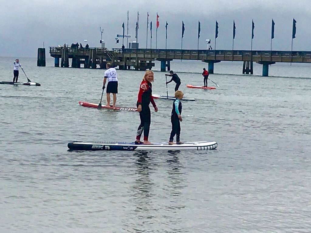
[[[153,82],[153,72],[146,71],[145,76],[140,84],[138,100],[137,100],[137,111],[139,112],[140,125],[137,129],[137,136],[135,144],[142,144],[140,137],[142,132],[144,132],[144,144],[151,144],[148,141],[150,122],[151,122],[151,112],[149,108],[150,102],[155,109],[155,112],[158,112],[158,107],[152,97],[152,85]]]

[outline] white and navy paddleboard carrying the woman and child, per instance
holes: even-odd
[[[217,142],[185,142],[183,144],[169,145],[167,142],[152,143],[151,145],[135,144],[134,142],[78,142],[68,143],[70,150],[213,150]]]

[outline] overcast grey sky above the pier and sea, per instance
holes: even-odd
[[[270,50],[271,19],[275,22],[273,50],[290,50],[292,21],[296,23],[293,50],[311,50],[310,0],[155,0],[155,1],[60,1],[60,0],[0,0],[0,56],[36,57],[43,46],[82,43],[100,47],[100,30],[104,29],[106,47],[118,48],[116,34],[122,34],[127,22],[129,34],[135,40],[137,11],[139,11],[140,48],[146,47],[146,15],[153,23],[153,48],[156,42],[156,12],[160,18],[158,48],[165,48],[165,22],[168,21],[168,48],[180,49],[181,25],[185,24],[184,49],[197,48],[198,21],[201,22],[200,49],[211,39],[214,48],[215,21],[219,23],[217,49],[232,48],[233,20],[236,24],[235,49],[251,48],[251,23],[255,23],[253,49]],[[126,28],[125,28],[126,30]],[[150,47],[150,30],[148,31]],[[47,54],[48,56],[48,51]]]

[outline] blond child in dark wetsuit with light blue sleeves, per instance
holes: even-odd
[[[173,102],[173,109],[171,114],[171,122],[172,122],[172,131],[171,135],[169,137],[169,144],[173,145],[174,142],[174,136],[176,135],[176,143],[177,144],[183,144],[180,141],[180,121],[183,121],[183,118],[181,118],[181,110],[182,105],[180,100],[183,99],[183,92],[182,91],[176,91],[175,92],[175,100]]]

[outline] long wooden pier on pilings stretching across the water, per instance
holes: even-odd
[[[55,67],[101,69],[106,63],[121,70],[147,70],[161,62],[161,71],[170,70],[173,60],[200,60],[208,63],[208,71],[214,73],[214,64],[221,61],[243,62],[243,74],[253,74],[253,62],[262,65],[262,76],[268,76],[269,65],[276,62],[311,63],[311,51],[262,51],[262,50],[181,50],[181,49],[121,49],[49,47]],[[61,62],[59,60],[61,59]]]

